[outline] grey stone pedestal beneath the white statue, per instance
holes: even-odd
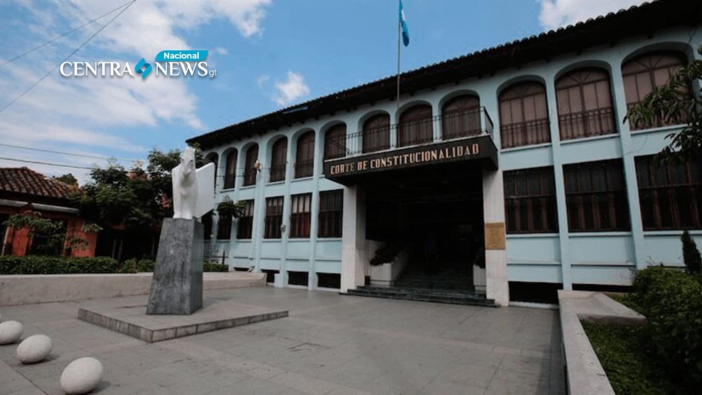
[[[192,314],[202,307],[203,226],[164,219],[147,314]]]

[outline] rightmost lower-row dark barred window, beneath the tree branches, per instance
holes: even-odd
[[[644,231],[702,228],[702,160],[656,164],[636,157]]]

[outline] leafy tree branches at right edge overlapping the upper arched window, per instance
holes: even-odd
[[[702,46],[697,51],[702,54]],[[670,76],[668,84],[658,86],[624,117],[630,124],[654,124],[656,119],[686,123],[681,131],[665,136],[669,142],[657,160],[684,160],[702,155],[702,96],[690,93],[690,87],[701,80],[702,60],[694,60],[680,67]]]

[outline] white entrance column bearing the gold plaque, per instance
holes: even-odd
[[[502,170],[483,171],[483,215],[485,224],[502,224],[501,237],[505,240],[505,197]],[[492,230],[494,231],[494,230]],[[485,238],[489,238],[488,226]],[[507,280],[507,251],[485,248],[486,297],[494,299],[500,306],[510,303],[510,288]]]

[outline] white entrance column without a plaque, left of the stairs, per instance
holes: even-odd
[[[366,207],[361,187],[344,188],[341,292],[363,285],[366,275]]]

